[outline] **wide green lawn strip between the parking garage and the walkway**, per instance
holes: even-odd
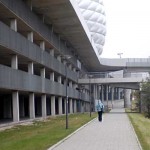
[[[89,113],[69,115],[69,128],[65,129],[65,116],[50,117],[32,125],[15,126],[0,132],[0,150],[46,150],[91,119]]]

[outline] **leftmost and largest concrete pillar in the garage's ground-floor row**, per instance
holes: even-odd
[[[12,93],[12,102],[13,102],[13,121],[19,122],[19,93],[14,91]]]

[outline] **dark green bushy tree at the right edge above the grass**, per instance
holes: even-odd
[[[145,116],[150,118],[150,78],[147,78],[146,82],[142,83],[141,94],[142,109],[145,113]]]

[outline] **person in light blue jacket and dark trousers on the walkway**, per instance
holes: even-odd
[[[98,112],[98,120],[101,122],[102,121],[102,114],[104,111],[104,104],[101,102],[101,100],[98,100],[98,103],[96,105],[96,110]]]

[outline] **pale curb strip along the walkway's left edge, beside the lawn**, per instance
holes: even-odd
[[[94,119],[92,119],[88,123],[84,124],[83,126],[81,126],[80,128],[78,128],[77,130],[75,130],[73,133],[69,134],[67,137],[65,137],[61,141],[57,142],[56,144],[54,144],[53,146],[51,146],[50,148],[48,148],[47,150],[53,150],[55,147],[57,147],[58,145],[60,145],[61,143],[63,143],[65,140],[69,139],[72,135],[76,134],[78,131],[80,131],[82,128],[84,128],[85,126],[87,126],[88,124],[90,124],[91,122],[93,122],[95,119],[97,119],[97,117],[94,118]]]

